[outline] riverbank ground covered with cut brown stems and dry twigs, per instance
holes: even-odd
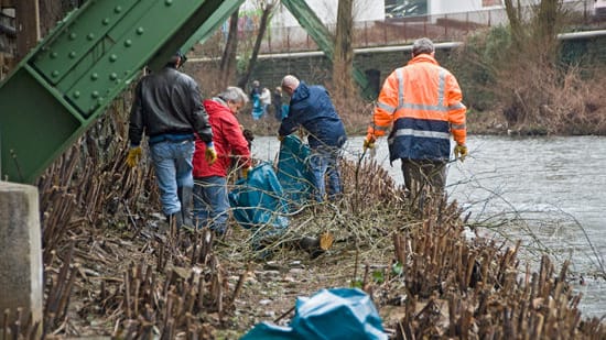
[[[159,233],[155,205],[118,208],[98,229],[74,224],[66,233],[73,255],[45,267],[47,279],[75,268],[73,278],[63,277],[73,279],[69,321],[48,327],[67,336],[238,339],[260,321],[285,325],[296,297],[355,286],[372,296],[392,336],[606,334],[597,318],[578,311],[567,265],[544,256],[532,273],[518,256],[519,243],[496,244],[473,232],[469,239],[456,202],[415,211],[375,161],[345,163],[344,183],[347,195],[338,202],[310,204],[290,217],[289,231],[270,245],[271,259],[259,259],[251,231],[235,223],[224,240]],[[296,235],[324,232],[335,242],[317,257],[288,246]]]

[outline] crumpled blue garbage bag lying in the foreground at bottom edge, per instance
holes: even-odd
[[[242,340],[347,339],[387,340],[382,320],[370,297],[358,288],[322,289],[300,297],[290,326],[255,326]]]

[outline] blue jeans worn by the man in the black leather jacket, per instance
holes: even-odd
[[[155,169],[155,179],[160,189],[162,212],[170,216],[181,212],[177,187],[193,187],[192,157],[194,142],[164,141],[150,145],[151,157]]]

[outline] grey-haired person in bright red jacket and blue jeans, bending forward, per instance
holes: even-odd
[[[236,161],[237,168],[245,169],[245,174],[251,166],[248,142],[236,118],[247,102],[248,96],[239,87],[228,87],[217,97],[203,102],[213,128],[217,161],[208,164],[204,156],[206,145],[196,140],[193,162],[194,216],[197,228],[208,226],[219,235],[227,231],[227,173],[231,162]]]

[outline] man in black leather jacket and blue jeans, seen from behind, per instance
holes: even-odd
[[[164,68],[144,76],[137,85],[130,112],[127,163],[131,167],[137,165],[145,133],[162,211],[171,226],[193,227],[192,158],[196,134],[206,143],[208,163],[214,163],[217,154],[199,87],[192,77],[177,70],[182,58],[177,53]]]

